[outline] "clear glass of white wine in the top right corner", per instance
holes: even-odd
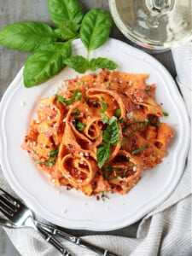
[[[136,44],[166,50],[192,39],[192,0],[108,0],[119,30]]]

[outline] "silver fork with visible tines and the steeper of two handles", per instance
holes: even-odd
[[[49,232],[38,225],[38,222],[33,217],[32,211],[28,207],[1,188],[0,212],[2,212],[11,223],[15,224],[15,227],[32,227],[35,230],[38,230],[45,241],[48,241],[51,245],[53,245],[62,255],[73,256],[72,253],[68,252],[67,249],[62,246],[60,241],[55,239],[54,236],[50,235]]]

